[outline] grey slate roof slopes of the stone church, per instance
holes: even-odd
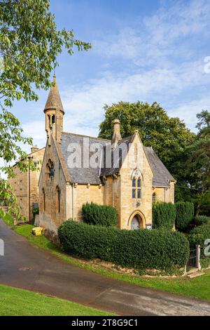
[[[99,154],[98,157],[97,164],[99,164],[99,166],[97,166],[97,169],[92,169],[90,166],[85,168],[83,166],[84,165],[83,157],[85,157],[83,151],[84,138],[89,138],[90,145],[92,145],[93,143],[99,143],[100,145],[102,145],[102,152]],[[120,144],[125,143],[128,146],[131,143],[131,140],[132,140],[132,136],[120,140],[118,145],[120,147]],[[69,168],[68,166],[68,158],[71,155],[71,151],[68,150],[68,147],[71,143],[76,143],[80,145],[81,156],[82,156],[80,168],[76,168],[76,167]],[[107,148],[106,152],[105,152],[105,146]],[[92,138],[74,133],[62,133],[61,149],[62,149],[62,154],[64,156],[64,160],[66,161],[71,182],[73,183],[83,183],[83,184],[90,183],[92,185],[98,185],[99,183],[102,183],[102,180],[100,179],[102,176],[111,176],[120,171],[120,166],[122,165],[122,161],[125,157],[125,150],[123,150],[123,152],[120,153],[119,159],[113,159],[113,152],[109,152],[109,150],[111,149],[111,140],[104,140],[102,138]],[[169,187],[169,180],[174,180],[172,175],[169,173],[165,165],[162,163],[158,155],[155,154],[154,150],[151,147],[144,147],[144,150],[146,152],[146,157],[153,171],[153,186]],[[95,151],[89,152],[89,159],[94,153]],[[106,159],[107,156],[111,157],[111,159],[109,159],[111,166],[106,168],[106,166],[103,166],[103,164],[104,165],[106,164],[106,161],[108,160]],[[118,164],[116,164],[116,161],[118,161]]]

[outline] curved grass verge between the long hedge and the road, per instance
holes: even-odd
[[[15,232],[27,237],[31,244],[41,247],[42,249],[48,250],[55,254],[59,258],[62,258],[67,263],[76,265],[80,268],[85,268],[91,270],[92,272],[97,272],[98,274],[105,275],[108,277],[113,277],[115,279],[120,279],[121,281],[130,282],[140,286],[147,286],[153,289],[160,289],[163,291],[168,291],[172,293],[178,293],[183,296],[192,296],[195,298],[202,298],[210,300],[210,271],[207,270],[205,275],[196,277],[194,279],[189,279],[187,277],[174,277],[174,278],[160,278],[160,277],[144,277],[144,276],[132,276],[127,274],[121,274],[118,272],[113,272],[111,270],[106,270],[97,265],[87,265],[82,261],[68,256],[66,253],[60,251],[52,242],[50,242],[46,237],[39,236],[36,237],[31,234],[31,229],[33,225],[21,225],[15,227]]]

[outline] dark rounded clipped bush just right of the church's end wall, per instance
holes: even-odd
[[[194,204],[191,202],[176,203],[176,229],[185,231],[192,223],[194,216]]]

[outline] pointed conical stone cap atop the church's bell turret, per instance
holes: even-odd
[[[52,81],[52,86],[50,88],[50,93],[48,95],[48,100],[45,104],[45,110],[52,110],[52,109],[56,109],[56,110],[60,110],[64,113],[64,108],[62,105],[62,100],[59,96],[59,91],[58,91],[58,87],[57,87],[57,81],[56,81],[56,76],[55,74],[53,75],[53,81]]]

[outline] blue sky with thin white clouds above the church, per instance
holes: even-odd
[[[51,0],[59,28],[73,29],[92,50],[59,56],[57,83],[64,131],[97,136],[103,105],[120,100],[157,101],[195,131],[196,114],[210,105],[210,1]],[[25,135],[45,145],[43,107],[13,108]]]

